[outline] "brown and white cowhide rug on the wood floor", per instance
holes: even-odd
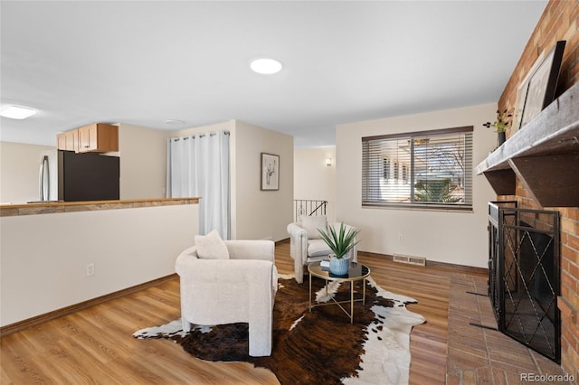
[[[350,284],[328,285],[314,278],[318,303],[348,300]],[[180,343],[186,352],[206,361],[252,362],[268,368],[281,384],[408,383],[410,332],[425,320],[406,309],[413,298],[398,296],[366,280],[365,305],[356,303],[354,324],[337,305],[308,310],[308,280],[280,277],[273,317],[270,357],[248,355],[248,324],[197,325],[183,333],[181,320],[139,330],[139,339],[164,338]],[[361,296],[362,283],[355,286]],[[349,304],[346,304],[349,310]]]

